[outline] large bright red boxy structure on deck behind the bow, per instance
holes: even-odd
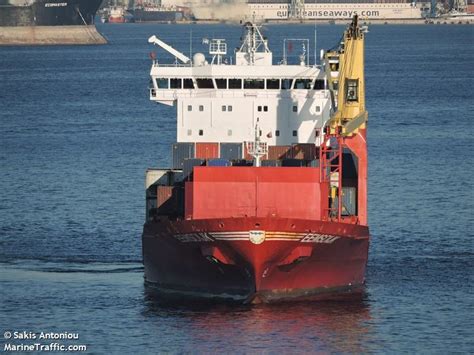
[[[321,219],[319,168],[195,167],[186,218]]]

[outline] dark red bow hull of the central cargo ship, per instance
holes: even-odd
[[[242,302],[358,290],[368,247],[365,226],[292,218],[162,218],[143,233],[147,282],[179,295]]]

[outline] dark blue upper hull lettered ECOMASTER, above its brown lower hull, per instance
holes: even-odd
[[[0,26],[92,25],[102,0],[0,0]]]

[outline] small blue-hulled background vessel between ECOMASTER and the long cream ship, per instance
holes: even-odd
[[[189,9],[176,6],[161,6],[157,1],[136,2],[128,10],[135,22],[177,22],[185,19]]]

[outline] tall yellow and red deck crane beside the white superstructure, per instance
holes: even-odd
[[[329,184],[329,204],[326,218],[343,221],[343,157],[349,149],[358,160],[357,219],[367,224],[367,211],[363,201],[367,196],[367,148],[365,128],[367,111],[365,109],[364,83],[364,33],[358,25],[357,15],[344,32],[336,49],[323,54],[323,60],[331,93],[334,111],[329,119],[324,142],[320,149],[321,181]]]

